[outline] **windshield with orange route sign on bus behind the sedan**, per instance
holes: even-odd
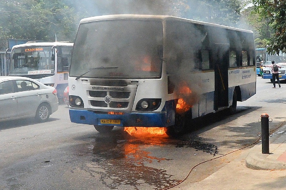
[[[26,46],[12,49],[10,75],[53,74],[51,46]]]

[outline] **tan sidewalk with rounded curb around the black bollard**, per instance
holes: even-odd
[[[286,125],[270,137],[269,152],[262,154],[260,142],[202,181],[186,181],[171,189],[286,190]]]

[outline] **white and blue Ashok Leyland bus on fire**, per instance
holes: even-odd
[[[74,123],[177,135],[188,119],[234,113],[256,93],[253,32],[167,15],[85,18],[68,83]]]

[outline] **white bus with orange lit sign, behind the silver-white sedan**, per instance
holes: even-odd
[[[73,43],[28,42],[13,46],[9,63],[10,76],[23,76],[55,87],[62,98],[68,86],[68,70]]]

